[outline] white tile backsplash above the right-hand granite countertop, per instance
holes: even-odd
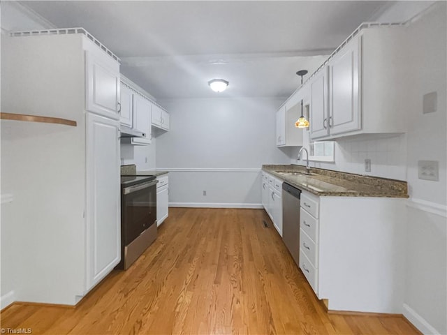
[[[298,149],[293,152],[296,158]],[[365,159],[371,160],[371,171],[365,171]],[[292,163],[296,161],[292,159]],[[311,166],[329,170],[406,180],[406,135],[363,135],[345,137],[335,142],[335,162],[310,162]]]

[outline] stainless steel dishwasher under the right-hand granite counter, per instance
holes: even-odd
[[[300,189],[282,183],[282,240],[298,266],[300,266],[300,198]]]

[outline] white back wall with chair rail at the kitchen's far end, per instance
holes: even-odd
[[[171,171],[170,204],[260,207],[261,166],[290,162],[275,146],[275,111],[283,101],[161,101],[170,112],[171,128],[157,138],[156,167]]]

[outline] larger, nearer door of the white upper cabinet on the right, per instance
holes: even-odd
[[[359,108],[359,40],[355,38],[330,61],[330,135],[361,128]]]

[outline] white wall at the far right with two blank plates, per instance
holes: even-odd
[[[447,15],[440,1],[409,27],[413,78],[408,96],[409,183],[405,311],[425,334],[447,334]],[[437,111],[423,114],[423,95],[437,92]],[[439,181],[418,179],[418,161],[438,161]]]

